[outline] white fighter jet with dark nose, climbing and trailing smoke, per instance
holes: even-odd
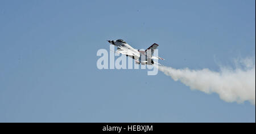
[[[130,45],[128,45],[124,40],[122,39],[118,39],[118,40],[109,40],[108,41],[110,44],[117,46],[117,51],[115,51],[115,53],[120,53],[120,54],[125,54],[127,57],[133,58],[135,60],[135,63],[137,64],[148,64],[148,65],[152,65],[152,64],[159,64],[157,62],[154,62],[154,60],[152,59],[162,59],[160,57],[156,57],[153,56],[154,54],[154,50],[156,49],[156,47],[158,47],[158,44],[153,44],[150,47],[148,47],[148,49],[146,49],[145,51],[141,51],[141,50],[137,50],[134,49],[133,47],[131,47]]]

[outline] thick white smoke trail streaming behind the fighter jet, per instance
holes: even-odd
[[[255,105],[254,61],[255,58],[236,60],[236,69],[221,67],[220,72],[210,71],[208,68],[190,70],[158,66],[158,69],[191,89],[217,93],[226,102],[250,101]]]

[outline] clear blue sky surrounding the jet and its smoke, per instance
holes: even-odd
[[[0,122],[255,122],[251,103],[160,71],[98,70],[118,38],[159,44],[166,66],[220,71],[255,57],[255,1],[0,1]]]

